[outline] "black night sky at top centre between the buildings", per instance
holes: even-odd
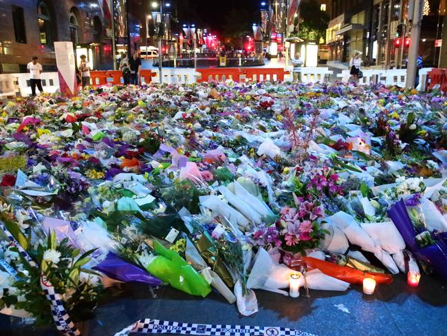
[[[225,17],[232,10],[245,9],[250,13],[247,21],[259,21],[261,0],[177,0],[179,18],[198,25],[208,26],[211,30],[221,31]]]

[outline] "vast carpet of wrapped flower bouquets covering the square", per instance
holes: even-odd
[[[73,322],[118,282],[346,291],[447,279],[447,100],[380,85],[87,89],[2,105],[1,313]],[[26,258],[24,257],[26,256]],[[309,292],[312,295],[312,291]]]

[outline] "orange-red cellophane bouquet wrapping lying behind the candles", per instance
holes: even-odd
[[[340,266],[312,257],[304,257],[304,260],[309,269],[319,269],[326,275],[348,282],[349,284],[362,284],[365,277],[371,277],[378,284],[391,284],[393,282],[393,277],[389,274],[363,272],[358,269],[351,269],[351,267]]]

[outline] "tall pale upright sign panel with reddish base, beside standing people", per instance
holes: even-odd
[[[78,88],[72,42],[54,42],[61,93],[75,96]]]

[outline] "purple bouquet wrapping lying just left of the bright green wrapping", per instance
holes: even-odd
[[[122,260],[115,253],[109,252],[105,260],[94,266],[96,271],[100,271],[114,280],[123,282],[142,282],[149,286],[159,286],[162,281],[157,277],[147,273],[144,269]]]

